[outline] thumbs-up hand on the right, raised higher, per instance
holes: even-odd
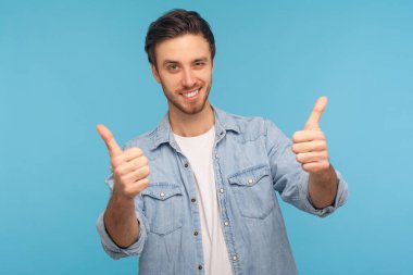
[[[304,129],[296,132],[292,136],[292,151],[302,168],[309,173],[322,173],[330,166],[326,139],[320,128],[320,117],[326,105],[327,98],[321,97],[315,102]]]

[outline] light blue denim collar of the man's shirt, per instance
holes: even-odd
[[[226,112],[220,110],[216,107],[212,107],[215,115],[215,132],[216,135],[223,136],[227,130],[234,130],[239,134],[239,126],[234,118],[234,116],[227,114]],[[171,124],[167,113],[163,116],[159,123],[157,129],[154,130],[154,138],[151,150],[157,149],[160,145],[165,142],[172,142],[174,140],[173,133],[171,130]]]

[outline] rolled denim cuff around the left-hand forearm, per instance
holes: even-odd
[[[147,232],[139,212],[136,211],[135,213],[139,221],[139,236],[138,239],[127,248],[120,248],[109,236],[103,222],[104,213],[100,214],[100,216],[98,217],[97,229],[100,235],[102,247],[104,251],[114,260],[124,257],[139,257],[143,250],[145,240],[147,238]]]

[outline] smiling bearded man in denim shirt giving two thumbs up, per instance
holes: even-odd
[[[297,274],[275,191],[325,216],[347,184],[328,162],[316,102],[291,142],[270,121],[212,107],[214,37],[196,12],[153,22],[146,51],[168,112],[152,132],[108,146],[112,196],[98,220],[104,250],[137,255],[139,274]]]

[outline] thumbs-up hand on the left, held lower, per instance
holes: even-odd
[[[134,199],[149,184],[149,161],[141,149],[134,147],[123,151],[112,133],[104,126],[97,129],[108,147],[114,178],[113,195]]]

